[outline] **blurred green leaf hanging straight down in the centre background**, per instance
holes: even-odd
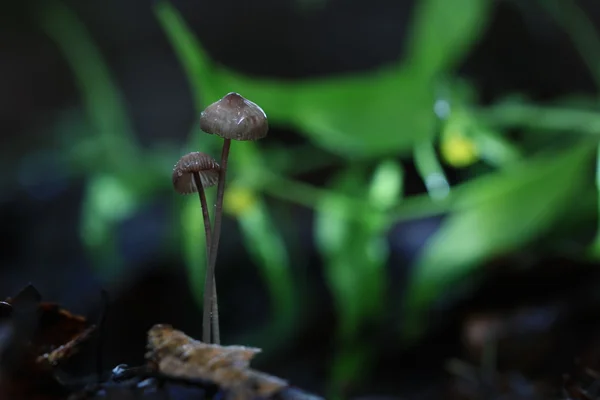
[[[350,169],[332,184],[338,192],[364,193],[364,177]],[[327,196],[318,204],[315,241],[325,262],[325,276],[339,318],[340,340],[351,340],[365,321],[381,311],[387,248],[381,225],[375,230],[368,218],[352,219],[364,209]]]

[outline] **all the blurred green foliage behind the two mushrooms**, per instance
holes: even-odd
[[[597,77],[597,55],[590,52],[598,52],[600,41],[593,27],[574,3],[566,15],[556,13],[556,4],[546,6],[571,33]],[[273,304],[272,323],[259,333],[276,336],[278,343],[300,322],[302,293],[265,195],[315,210],[315,244],[337,311],[331,398],[355,382],[359,372],[365,375],[370,348],[359,342],[357,333],[367,324],[376,326],[386,302],[397,298],[385,287],[391,225],[446,215],[412,266],[405,315],[399,316],[406,327],[404,337],[415,338],[426,329],[424,317],[442,295],[469,281],[490,258],[542,240],[551,228],[585,212],[578,201],[597,196],[588,173],[600,136],[597,99],[570,98],[542,106],[518,94],[484,108],[477,105],[476,88],[453,76],[482,36],[491,7],[489,0],[420,0],[402,63],[288,82],[244,76],[216,64],[172,4],[162,0],[154,6],[198,111],[227,92],[239,92],[265,110],[271,125],[291,126],[309,142],[302,148],[267,150],[234,143],[226,206],[239,223],[244,246]],[[56,0],[44,3],[36,15],[71,66],[84,100],[86,123],[59,127],[62,151],[73,170],[86,177],[81,236],[99,271],[110,278],[123,267],[114,243],[116,227],[144,202],[170,189],[169,174],[180,146],[162,143],[143,150],[85,26]],[[435,108],[440,105],[447,108],[445,114]],[[504,135],[509,128],[520,129],[525,139],[510,140]],[[438,145],[443,162],[468,172],[466,183],[450,187]],[[218,138],[200,134],[197,127],[187,145],[213,155],[219,146]],[[544,152],[546,148],[555,149]],[[331,162],[330,153],[339,156],[335,163],[341,172],[327,188],[291,178]],[[399,158],[412,158],[427,194],[404,197]],[[491,172],[480,173],[479,161]],[[364,168],[369,163],[377,166],[372,175]],[[596,187],[600,192],[600,178]],[[207,196],[213,204],[214,192]],[[206,259],[201,210],[194,196],[173,194],[173,199],[179,216],[174,230],[182,240],[172,244],[180,243],[175,250],[185,259],[200,303]],[[597,239],[589,256],[598,257],[599,249]],[[274,343],[269,341],[271,348]]]

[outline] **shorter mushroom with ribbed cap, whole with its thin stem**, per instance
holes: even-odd
[[[204,219],[204,233],[206,235],[206,279],[209,279],[208,264],[210,263],[210,242],[212,235],[204,189],[214,186],[217,183],[219,179],[219,170],[219,164],[217,164],[214,158],[200,152],[192,152],[184,155],[173,168],[173,187],[175,188],[175,191],[184,195],[198,193],[198,197],[200,197],[200,207],[202,208],[202,218]],[[208,324],[210,324],[210,321],[213,321],[212,337],[213,340],[218,343],[220,341],[219,310],[216,308],[217,288],[214,274],[212,274],[210,279],[211,280],[208,282],[212,282],[212,293],[208,293],[206,289],[204,291],[204,313],[208,315],[212,312],[212,318],[209,318],[209,322],[203,328],[204,332],[202,340],[206,343],[210,343],[211,327]],[[209,294],[211,295],[210,297]],[[212,306],[213,302],[211,301],[213,297],[215,299],[214,306]]]

